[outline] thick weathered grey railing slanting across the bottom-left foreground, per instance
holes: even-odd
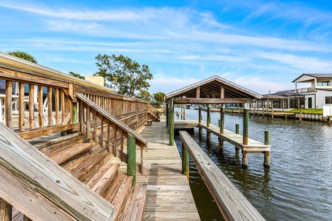
[[[1,220],[113,220],[115,210],[88,186],[0,123]]]

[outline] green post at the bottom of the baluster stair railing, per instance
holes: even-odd
[[[136,139],[128,134],[127,137],[127,175],[133,176],[133,185],[136,184]]]

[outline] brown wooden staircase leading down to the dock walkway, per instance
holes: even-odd
[[[113,163],[115,157],[112,153],[92,140],[78,136],[80,140],[71,138],[40,151],[113,204],[116,209],[114,220],[142,220],[147,198],[146,184],[132,186],[133,177],[118,173],[120,164]]]

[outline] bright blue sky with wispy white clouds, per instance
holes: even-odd
[[[259,93],[332,73],[331,1],[0,1],[0,50],[92,75],[99,53],[149,65],[149,91],[220,75]],[[305,85],[304,85],[305,86]]]

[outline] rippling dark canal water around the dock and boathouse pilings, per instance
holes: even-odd
[[[179,110],[177,110],[179,111]],[[198,119],[198,111],[185,110],[186,119]],[[206,121],[206,112],[202,112]],[[220,113],[211,113],[218,125]],[[178,119],[178,117],[175,117]],[[241,115],[225,115],[225,128],[235,131]],[[251,117],[249,137],[264,142],[264,131],[270,131],[270,169],[264,169],[264,154],[249,154],[248,169],[241,167],[241,151],[225,142],[219,149],[218,138],[198,128],[190,133],[217,166],[237,186],[266,220],[332,220],[332,126],[321,122],[293,119]],[[188,130],[190,132],[190,130]],[[181,140],[176,133],[181,153]],[[223,220],[210,192],[190,162],[192,189],[201,220]]]

